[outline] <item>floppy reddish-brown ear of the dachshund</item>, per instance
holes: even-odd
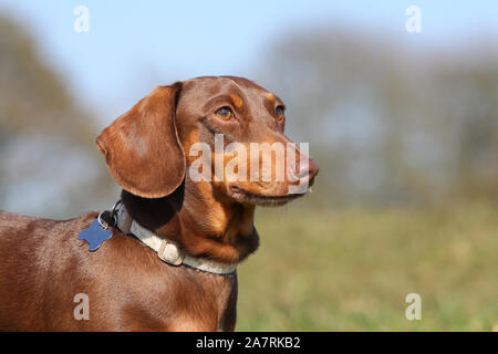
[[[157,86],[96,138],[107,167],[127,191],[144,198],[172,194],[185,177],[176,131],[181,83]]]

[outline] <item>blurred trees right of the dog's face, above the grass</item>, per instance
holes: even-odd
[[[491,45],[494,44],[494,45]],[[437,48],[322,29],[278,39],[259,81],[321,166],[321,205],[498,197],[496,41]]]

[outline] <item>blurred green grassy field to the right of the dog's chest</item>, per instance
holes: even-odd
[[[498,207],[261,209],[239,267],[237,331],[491,331]],[[422,320],[408,321],[408,293]]]

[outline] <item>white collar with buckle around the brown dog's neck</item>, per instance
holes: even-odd
[[[205,258],[190,257],[186,254],[185,250],[176,242],[159,237],[155,232],[136,222],[126,211],[123,204],[120,205],[116,217],[116,226],[123,233],[135,236],[142,242],[156,251],[160,260],[168,264],[186,264],[200,271],[215,274],[230,274],[237,270],[237,263],[224,264],[207,260]]]

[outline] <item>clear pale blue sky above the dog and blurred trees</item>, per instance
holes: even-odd
[[[89,33],[73,30],[80,4],[90,10]],[[108,123],[156,84],[251,76],[266,48],[292,30],[331,25],[407,35],[411,4],[422,9],[423,42],[498,34],[498,1],[0,0],[0,11],[31,30],[73,95]]]

